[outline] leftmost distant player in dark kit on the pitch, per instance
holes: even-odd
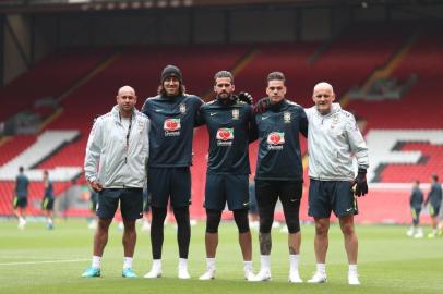
[[[27,208],[27,187],[29,180],[24,174],[23,167],[19,168],[19,175],[15,177],[15,197],[13,200],[14,215],[19,219],[19,229],[24,229],[26,225],[26,208]]]

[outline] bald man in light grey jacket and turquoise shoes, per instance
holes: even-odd
[[[100,277],[100,261],[108,230],[120,203],[123,217],[123,278],[136,278],[132,270],[135,249],[135,221],[143,216],[143,185],[149,152],[149,121],[135,109],[136,96],[130,86],[117,94],[117,106],[97,118],[86,147],[85,177],[98,192],[98,228],[94,236],[92,266],[83,278]]]

